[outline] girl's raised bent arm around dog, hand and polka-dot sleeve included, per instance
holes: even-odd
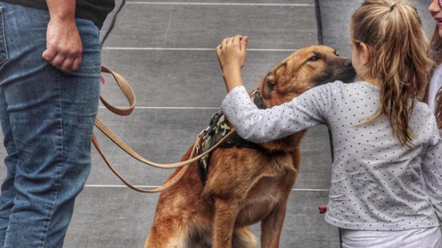
[[[331,106],[331,84],[316,87],[293,101],[259,110],[243,86],[241,68],[246,59],[247,37],[224,39],[216,48],[229,94],[222,109],[237,133],[246,140],[263,143],[325,123]]]

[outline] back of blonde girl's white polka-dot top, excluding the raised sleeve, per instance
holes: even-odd
[[[438,140],[427,105],[414,106],[409,125],[417,139],[408,147],[394,137],[385,116],[357,126],[379,108],[378,87],[366,82],[327,87],[331,99],[325,119],[333,134],[334,161],[326,220],[366,230],[437,226],[421,169],[427,146]]]

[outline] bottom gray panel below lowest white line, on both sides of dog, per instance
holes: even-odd
[[[281,234],[280,247],[338,247],[338,229],[317,211],[327,201],[328,192],[292,191]],[[157,195],[127,188],[87,187],[77,198],[75,214],[66,236],[65,248],[143,247],[150,231]],[[260,237],[260,226],[252,231]]]

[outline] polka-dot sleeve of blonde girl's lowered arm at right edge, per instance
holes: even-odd
[[[435,120],[433,137],[422,160],[422,175],[430,202],[437,217],[442,219],[442,140]]]

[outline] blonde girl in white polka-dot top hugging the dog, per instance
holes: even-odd
[[[325,220],[342,228],[342,247],[442,247],[442,143],[424,95],[431,60],[416,9],[366,0],[352,16],[353,66],[360,82],[315,87],[259,110],[241,79],[247,37],[216,48],[229,94],[222,108],[256,143],[326,124],[333,136]],[[305,63],[322,63],[306,60]],[[277,86],[275,86],[277,87]]]

